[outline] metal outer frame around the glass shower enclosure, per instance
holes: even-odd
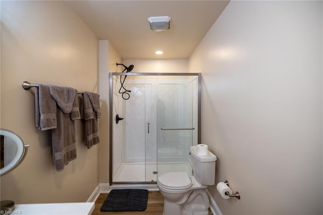
[[[201,143],[201,73],[109,73],[109,183],[113,184],[156,184],[157,182],[135,181],[135,182],[113,182],[113,76],[197,76],[197,143]]]

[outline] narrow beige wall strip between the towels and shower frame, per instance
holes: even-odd
[[[109,183],[109,157],[110,157],[110,125],[109,125],[109,73],[117,72],[116,63],[122,60],[108,40],[99,41],[99,77],[100,77],[100,100],[101,100],[101,123],[99,145],[99,183]]]

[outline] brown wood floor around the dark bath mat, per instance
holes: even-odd
[[[92,215],[102,215],[102,214],[116,214],[116,215],[128,215],[128,214],[163,214],[164,207],[164,197],[159,191],[149,191],[147,209],[145,211],[131,211],[131,212],[101,212],[100,208],[109,193],[100,193],[99,197],[95,201],[95,208]],[[208,214],[212,215],[210,209],[208,209]]]

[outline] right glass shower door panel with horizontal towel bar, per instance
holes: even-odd
[[[190,175],[189,147],[197,144],[197,77],[159,76],[156,90],[158,174]]]

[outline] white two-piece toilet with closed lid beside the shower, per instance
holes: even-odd
[[[190,147],[193,176],[185,172],[166,173],[158,177],[157,186],[164,196],[164,215],[207,215],[207,185],[214,185],[217,156],[208,151],[198,155],[197,146]]]

